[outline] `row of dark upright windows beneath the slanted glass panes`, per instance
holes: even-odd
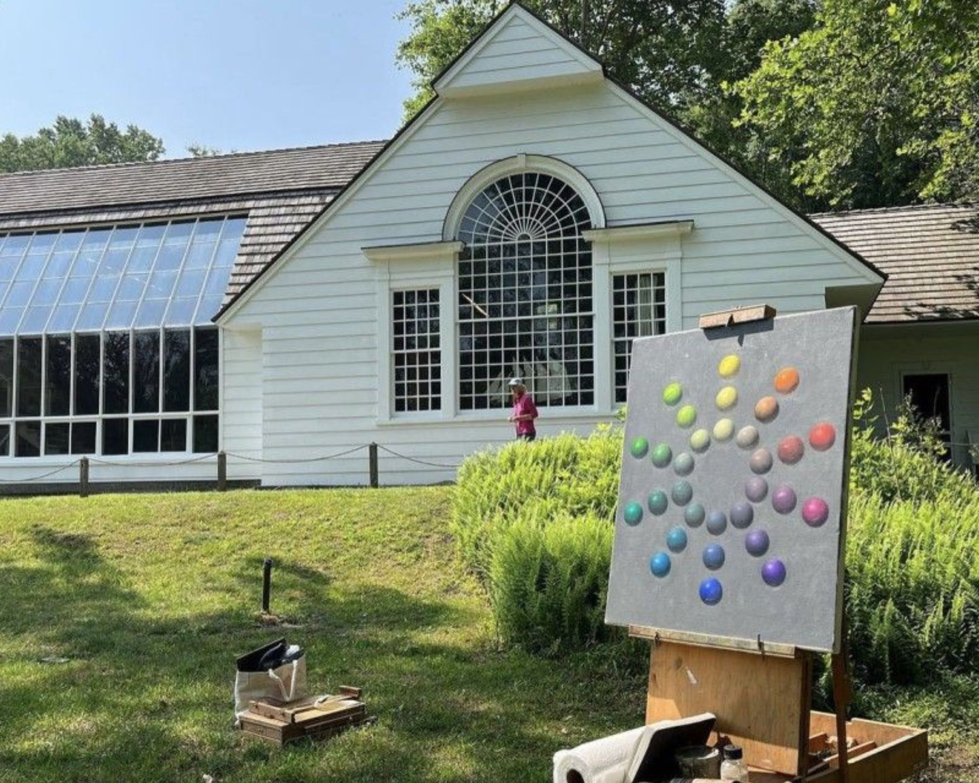
[[[0,457],[217,451],[218,341],[214,327],[0,338]]]

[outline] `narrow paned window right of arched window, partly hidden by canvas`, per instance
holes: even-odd
[[[638,272],[612,276],[612,356],[615,401],[625,402],[629,389],[632,341],[667,331],[666,275]]]

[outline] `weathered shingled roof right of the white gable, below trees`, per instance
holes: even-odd
[[[979,318],[979,205],[810,217],[888,275],[867,323]]]

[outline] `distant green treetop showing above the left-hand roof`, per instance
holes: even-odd
[[[87,121],[58,116],[33,136],[0,136],[0,172],[156,161],[164,152],[161,139],[136,125],[123,131],[102,115]]]

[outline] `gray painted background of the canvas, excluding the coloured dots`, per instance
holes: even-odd
[[[852,307],[838,308],[635,341],[606,622],[752,641],[761,637],[812,650],[837,649],[855,312]],[[723,379],[718,364],[732,353],[741,359],[740,371]],[[782,395],[774,391],[773,380],[785,366],[796,367],[801,380],[796,391]],[[668,406],[662,397],[671,381],[683,387],[683,398],[675,406]],[[715,396],[728,384],[737,389],[738,401],[732,409],[719,411]],[[780,410],[774,421],[764,424],[756,420],[754,406],[769,394],[779,400]],[[696,424],[686,430],[676,425],[676,410],[685,403],[697,409]],[[729,517],[731,506],[746,499],[744,485],[754,476],[748,465],[753,449],[739,448],[734,438],[719,443],[713,434],[705,453],[694,452],[688,443],[694,431],[702,427],[713,431],[722,418],[734,422],[735,435],[746,425],[755,426],[760,434],[756,447],[765,446],[772,453],[773,467],[764,477],[769,495],[753,504],[751,526],[737,530],[728,521],[721,535],[711,534],[706,522],[690,528],[683,521],[683,508],[672,499],[665,514],[653,515],[646,504],[649,493],[659,488],[669,495],[681,477],[673,465],[654,466],[649,454],[632,457],[629,444],[639,436],[649,440],[650,452],[657,442],[666,442],[675,456],[686,451],[694,457],[694,471],[685,478],[693,486],[691,502],[701,503],[708,515],[721,509]],[[810,428],[820,421],[836,429],[835,444],[822,452],[809,444]],[[776,454],[778,440],[788,435],[799,436],[806,445],[805,455],[795,465],[782,464]],[[788,515],[776,513],[771,506],[771,494],[779,484],[789,484],[798,496],[796,509]],[[829,519],[819,528],[802,519],[802,505],[811,496],[829,504]],[[643,518],[629,527],[623,509],[633,500],[642,505]],[[687,545],[675,554],[667,548],[666,534],[677,526],[686,531]],[[744,538],[759,528],[769,533],[769,551],[753,557]],[[710,571],[702,562],[703,549],[711,543],[724,549],[725,562],[718,571]],[[659,551],[668,552],[672,560],[670,574],[662,578],[649,570],[650,557]],[[761,576],[763,564],[773,557],[782,560],[787,570],[778,587],[770,587]],[[723,599],[714,606],[704,604],[698,593],[701,580],[710,576],[723,585]]]

